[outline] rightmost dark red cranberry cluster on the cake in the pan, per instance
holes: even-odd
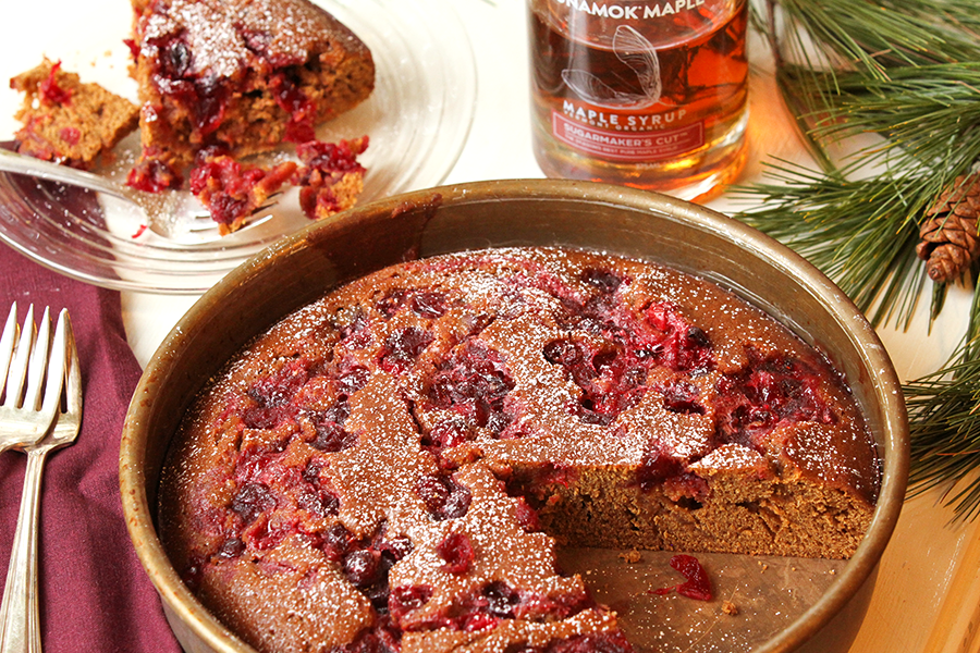
[[[762,357],[747,348],[748,366],[718,382],[716,431],[721,442],[763,449],[763,440],[784,421],[836,423],[820,396],[820,379],[807,364],[782,355]]]

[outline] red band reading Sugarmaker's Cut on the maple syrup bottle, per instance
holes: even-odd
[[[592,112],[597,113],[597,112]],[[649,119],[651,116],[605,115],[605,123],[612,126],[621,120]],[[660,118],[659,115],[653,118]],[[601,123],[600,123],[601,124]],[[705,145],[702,122],[688,124],[675,130],[661,128],[656,132],[623,132],[592,126],[568,119],[558,111],[552,112],[552,134],[562,143],[593,157],[610,161],[639,163],[673,159]]]

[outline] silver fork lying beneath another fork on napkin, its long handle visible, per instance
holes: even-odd
[[[60,344],[59,344],[60,343]],[[41,472],[49,453],[75,441],[82,426],[82,372],[75,336],[68,311],[62,310],[56,329],[52,360],[63,360],[57,379],[49,378],[59,387],[64,384],[64,405],[58,403],[58,416],[47,434],[33,444],[21,446],[27,454],[24,475],[24,493],[17,528],[14,532],[3,601],[0,603],[0,652],[40,653],[40,620],[38,618],[37,587],[37,532],[40,507]],[[59,391],[59,399],[61,398]]]

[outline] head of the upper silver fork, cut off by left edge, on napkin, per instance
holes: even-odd
[[[38,332],[34,323],[34,305],[27,309],[23,329],[17,328],[17,303],[14,301],[10,307],[3,334],[0,335],[0,392],[3,393],[3,404],[0,405],[0,452],[34,444],[51,427],[61,401],[65,365],[64,337],[59,318],[52,345],[51,320],[47,308]]]

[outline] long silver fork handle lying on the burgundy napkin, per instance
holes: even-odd
[[[37,532],[45,452],[27,455],[24,493],[14,532],[3,603],[0,604],[0,653],[41,653],[37,609]]]

